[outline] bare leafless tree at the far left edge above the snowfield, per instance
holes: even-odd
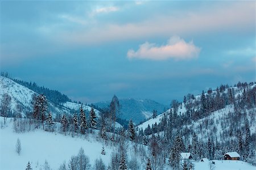
[[[11,96],[9,94],[6,94],[6,93],[3,94],[0,109],[1,109],[0,115],[3,116],[3,122],[4,124],[6,124],[6,118],[11,109]]]

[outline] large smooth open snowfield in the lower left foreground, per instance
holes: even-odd
[[[112,148],[105,147],[106,155],[101,154],[102,144],[94,138],[89,141],[80,137],[71,137],[58,133],[51,133],[43,130],[35,130],[27,133],[14,133],[13,122],[7,119],[7,127],[0,129],[0,169],[15,170],[25,169],[28,161],[33,169],[43,169],[43,164],[47,160],[52,169],[58,169],[64,161],[68,163],[73,155],[77,155],[82,147],[85,155],[90,158],[90,164],[94,160],[102,158],[108,165]],[[0,122],[2,122],[0,117]],[[17,139],[20,139],[21,153],[15,152]]]

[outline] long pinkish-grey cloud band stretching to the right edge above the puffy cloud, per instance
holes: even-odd
[[[102,8],[99,11],[114,11]],[[236,11],[236,12],[234,12]],[[153,36],[193,35],[193,33],[230,31],[245,32],[255,27],[254,2],[236,2],[196,11],[185,11],[179,17],[156,15],[139,23],[106,23],[92,29],[57,33],[57,40],[71,44],[98,44]],[[55,35],[56,36],[56,35]],[[64,39],[64,40],[63,40]]]

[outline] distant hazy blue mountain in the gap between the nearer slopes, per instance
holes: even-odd
[[[109,104],[110,101],[102,101],[94,105],[97,105],[99,108],[107,108]],[[132,119],[135,124],[150,118],[154,110],[157,113],[162,113],[168,107],[149,99],[119,99],[119,104],[121,108],[117,116],[126,120]]]

